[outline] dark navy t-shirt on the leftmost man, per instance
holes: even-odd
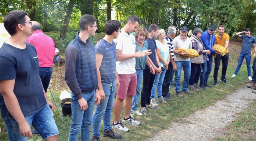
[[[26,43],[19,49],[4,43],[0,48],[0,80],[15,79],[13,92],[24,116],[40,111],[46,100],[39,77],[39,62],[35,47]],[[0,95],[0,109],[3,119],[12,117]]]

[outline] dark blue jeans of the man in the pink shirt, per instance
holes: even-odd
[[[52,77],[52,67],[39,67],[39,76],[46,92]]]

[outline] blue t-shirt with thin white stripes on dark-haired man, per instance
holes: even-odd
[[[99,72],[101,76],[101,82],[111,83],[115,80],[116,72],[116,59],[117,50],[115,42],[108,43],[106,40],[101,39],[95,46],[95,53],[103,55]]]

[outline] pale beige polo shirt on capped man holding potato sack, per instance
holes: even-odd
[[[182,49],[191,49],[192,42],[188,36],[186,40],[183,40],[180,38],[180,36],[177,36],[173,39],[172,46],[174,50],[177,50],[177,47]],[[190,61],[190,58],[181,58],[179,55],[175,54],[175,61]]]

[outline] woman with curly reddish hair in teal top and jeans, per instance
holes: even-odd
[[[148,37],[148,31],[144,27],[140,27],[137,29],[137,31],[134,34],[136,39],[136,51],[143,51],[148,50],[148,43],[145,40]],[[142,113],[139,112],[138,103],[139,103],[139,95],[141,91],[142,86],[142,78],[143,78],[143,69],[146,65],[146,59],[147,56],[135,58],[136,60],[136,75],[137,75],[137,86],[136,86],[136,95],[132,98],[132,108],[131,112],[134,112],[136,115],[142,115]]]

